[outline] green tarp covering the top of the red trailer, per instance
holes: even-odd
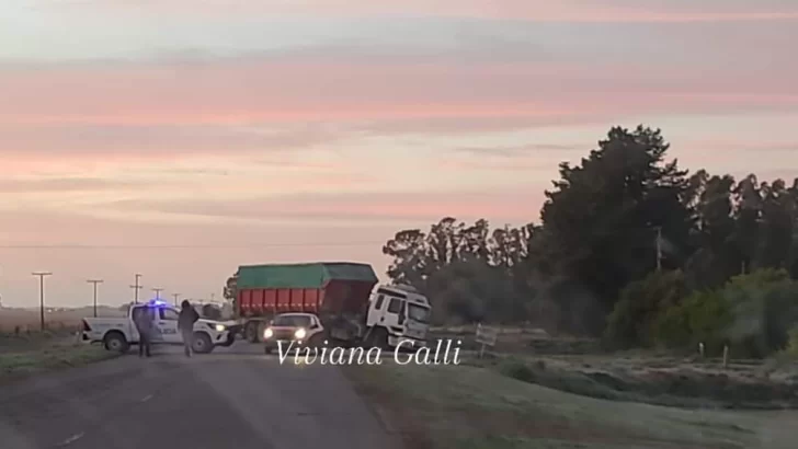
[[[322,288],[331,280],[377,284],[368,264],[312,263],[244,265],[238,268],[238,289],[248,288]]]

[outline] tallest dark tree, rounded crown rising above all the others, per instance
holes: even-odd
[[[656,266],[661,229],[669,257],[679,266],[689,253],[691,211],[682,199],[687,172],[665,160],[660,130],[612,128],[579,166],[560,164],[540,217],[550,239],[548,257],[611,310],[620,289]]]

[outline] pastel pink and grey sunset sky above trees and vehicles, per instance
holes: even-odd
[[[218,299],[444,216],[537,221],[561,161],[661,128],[798,176],[795,0],[0,0],[0,295]],[[169,246],[169,247],[167,247]]]

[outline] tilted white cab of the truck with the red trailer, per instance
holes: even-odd
[[[426,297],[413,287],[379,286],[368,302],[367,339],[388,347],[408,339],[413,347],[425,346],[431,310]]]

